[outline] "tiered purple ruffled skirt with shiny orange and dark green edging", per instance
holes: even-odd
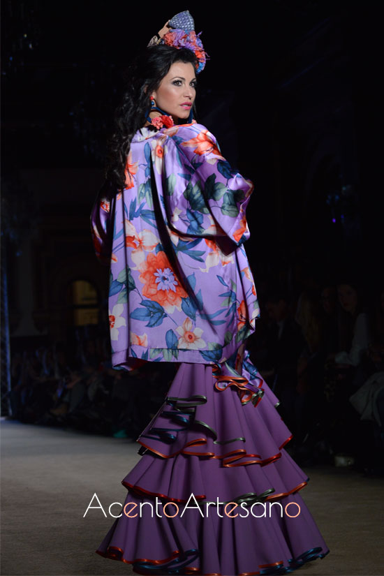
[[[276,404],[249,363],[241,377],[181,364],[96,552],[139,574],[283,574],[323,558],[329,549],[298,494],[309,478],[283,448],[292,434]]]

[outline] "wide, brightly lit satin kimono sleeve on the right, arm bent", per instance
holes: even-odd
[[[179,126],[165,152],[165,205],[171,225],[195,236],[249,238],[246,222],[253,184],[221,155],[205,126]]]

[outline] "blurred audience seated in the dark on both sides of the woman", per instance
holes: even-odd
[[[248,347],[293,433],[288,452],[307,466],[345,455],[356,469],[383,475],[384,286],[367,299],[348,275],[322,280],[308,264],[284,265],[260,281],[258,297],[261,317]],[[13,350],[12,418],[136,439],[178,364],[115,370],[109,348],[101,325],[77,328],[68,345]]]

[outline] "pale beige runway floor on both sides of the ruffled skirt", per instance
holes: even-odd
[[[124,503],[135,441],[1,418],[1,575],[131,575],[95,553]],[[299,576],[384,575],[384,480],[348,468],[305,468],[300,494],[330,554]],[[97,495],[105,510],[89,508]],[[91,505],[98,505],[96,498]],[[119,508],[115,506],[113,513]]]

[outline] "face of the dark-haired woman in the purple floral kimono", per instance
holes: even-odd
[[[172,118],[185,120],[189,117],[196,97],[195,68],[190,62],[175,62],[163,77],[157,90],[152,92],[156,106],[168,112]],[[151,113],[158,116],[156,110]]]

